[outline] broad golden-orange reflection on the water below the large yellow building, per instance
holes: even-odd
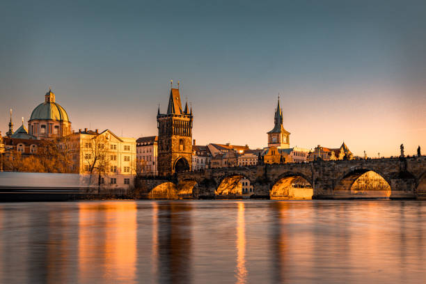
[[[79,278],[134,281],[136,276],[136,203],[79,204]],[[101,258],[100,258],[101,256]],[[94,261],[103,260],[100,271]]]

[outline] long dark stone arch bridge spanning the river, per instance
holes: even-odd
[[[373,171],[384,178],[386,192],[353,191],[361,175]],[[261,166],[210,168],[176,174],[176,188],[192,198],[214,198],[219,184],[230,177],[245,177],[255,196],[267,197],[277,184],[303,178],[313,189],[312,198],[422,198],[426,197],[426,157],[315,161],[306,164],[265,164]],[[377,195],[378,194],[378,195]]]

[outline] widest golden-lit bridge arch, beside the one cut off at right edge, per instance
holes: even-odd
[[[388,198],[391,194],[388,176],[376,168],[355,166],[336,180],[333,195],[344,197]]]

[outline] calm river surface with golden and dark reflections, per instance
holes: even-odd
[[[0,203],[0,283],[425,283],[426,202]]]

